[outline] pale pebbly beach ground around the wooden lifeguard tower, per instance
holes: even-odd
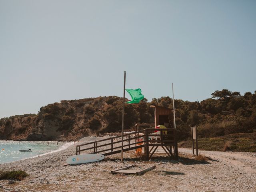
[[[100,139],[86,137],[78,144]],[[256,153],[200,150],[200,154],[210,158],[200,162],[187,148],[178,148],[178,161],[160,153],[154,154],[150,161],[142,161],[130,151],[124,153],[124,163],[120,162],[120,154],[115,154],[101,162],[64,166],[66,158],[75,155],[75,150],[72,144],[52,154],[0,164],[0,168],[25,170],[29,174],[13,184],[1,180],[0,191],[256,191]],[[156,168],[141,176],[110,173],[132,164],[136,169],[152,165]]]

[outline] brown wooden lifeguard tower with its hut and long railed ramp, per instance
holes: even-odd
[[[147,160],[153,156],[158,147],[168,154],[178,158],[178,144],[176,129],[173,128],[173,112],[169,108],[151,105],[155,108],[154,124],[135,124],[135,131],[124,134],[123,151],[136,150],[144,147],[144,155]],[[158,125],[168,125],[167,128],[154,128]],[[153,126],[153,128],[152,128]],[[151,127],[151,128],[150,128]],[[76,154],[101,153],[104,156],[121,152],[122,136],[115,136],[76,146]],[[157,138],[157,139],[156,139]],[[86,148],[85,148],[86,147]]]

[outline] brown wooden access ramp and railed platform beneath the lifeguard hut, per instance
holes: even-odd
[[[178,146],[175,129],[146,128],[141,131],[124,134],[123,152],[144,148],[144,154],[149,160],[158,147],[162,148],[168,156],[178,158]],[[100,153],[104,156],[117,154],[122,151],[122,136],[102,139],[76,146],[76,154],[81,152]],[[173,153],[172,153],[173,147]]]

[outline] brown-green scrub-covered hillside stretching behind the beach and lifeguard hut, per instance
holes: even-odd
[[[126,104],[125,129],[136,122],[154,122],[150,105],[173,108],[169,97],[145,98],[138,104]],[[197,126],[200,138],[256,131],[256,92],[216,90],[212,98],[201,102],[175,100],[178,140],[190,138],[191,126]],[[63,100],[41,107],[38,114],[0,119],[0,139],[77,140],[92,134],[118,132],[122,125],[122,98],[118,96]]]

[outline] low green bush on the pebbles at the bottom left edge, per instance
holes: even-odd
[[[0,180],[18,180],[21,181],[23,178],[26,178],[28,174],[25,171],[6,171],[4,168],[0,170]]]

